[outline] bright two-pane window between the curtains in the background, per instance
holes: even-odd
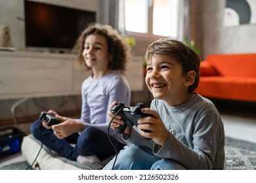
[[[125,0],[125,31],[139,37],[177,38],[179,0]]]

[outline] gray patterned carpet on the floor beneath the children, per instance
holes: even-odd
[[[226,170],[256,170],[255,143],[226,137],[225,154]],[[0,170],[26,170],[29,166],[26,161],[22,161],[0,167]]]

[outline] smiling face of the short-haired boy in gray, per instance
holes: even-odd
[[[168,105],[181,105],[190,94],[182,65],[171,56],[155,56],[149,61],[146,85],[155,99],[162,99]]]

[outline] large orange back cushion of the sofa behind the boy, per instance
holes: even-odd
[[[221,76],[256,77],[256,54],[213,54],[206,60]]]

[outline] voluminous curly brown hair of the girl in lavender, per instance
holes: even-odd
[[[109,56],[108,67],[111,70],[121,72],[125,71],[127,63],[131,57],[131,48],[125,41],[125,37],[118,33],[110,25],[92,23],[87,26],[83,33],[81,33],[81,35],[78,37],[74,46],[74,50],[78,51],[77,63],[79,65],[85,65],[87,70],[91,69],[85,64],[85,59],[83,58],[85,39],[89,35],[102,35],[106,37]]]

